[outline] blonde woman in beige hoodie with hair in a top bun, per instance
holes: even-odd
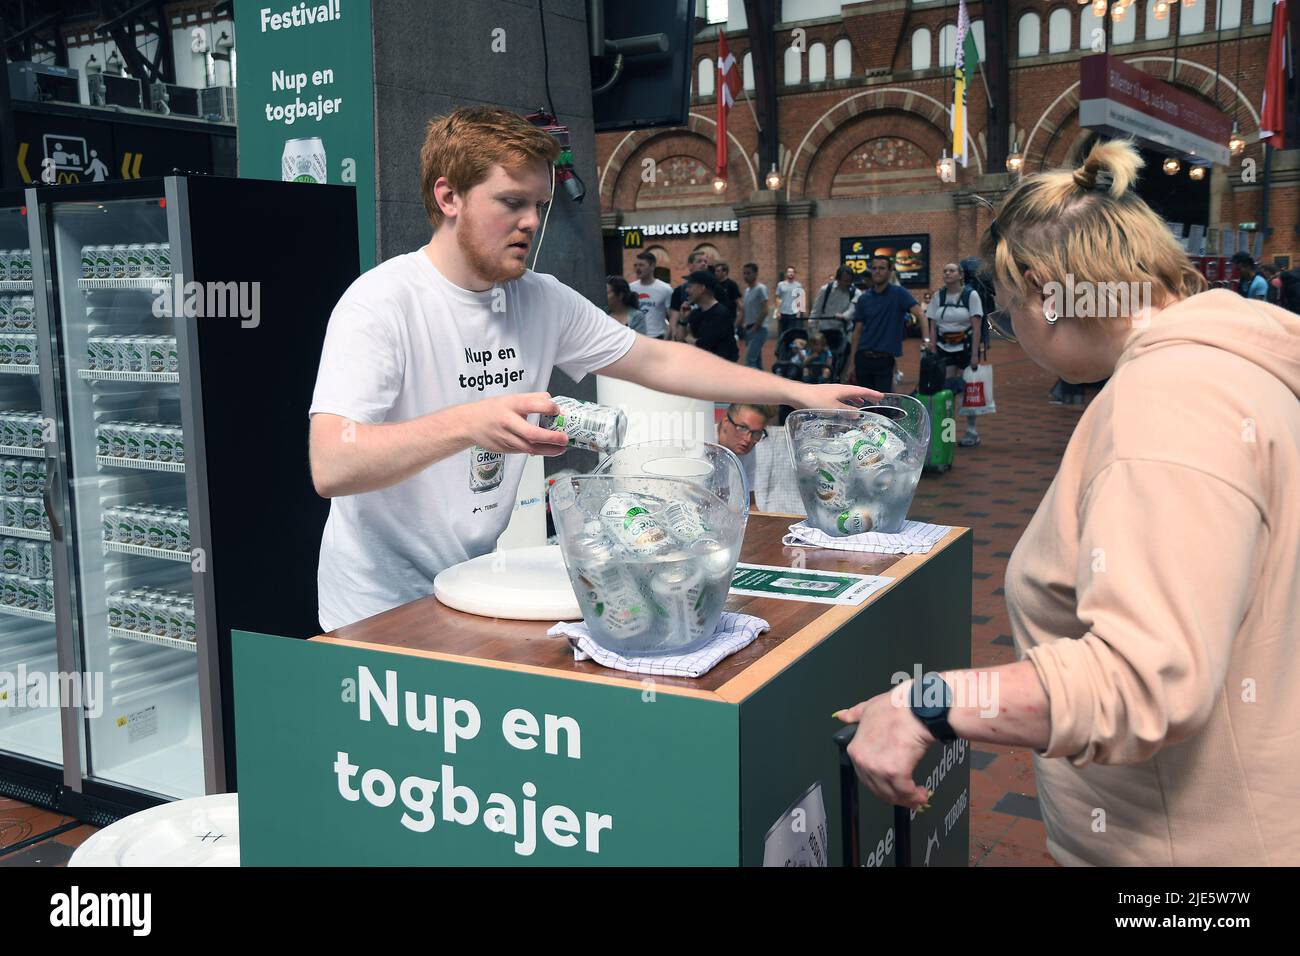
[[[1204,291],[1140,168],[1101,143],[1015,186],[985,238],[994,328],[1066,381],[1110,381],[1008,566],[1020,659],[993,669],[997,713],[948,671],[946,718],[1035,750],[1063,864],[1297,865],[1300,316]],[[911,689],[838,717],[863,782],[920,806],[935,737]]]

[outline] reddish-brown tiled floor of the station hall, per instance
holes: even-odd
[[[772,343],[766,365],[771,367]],[[900,392],[915,386],[919,339],[907,339]],[[1015,659],[1002,597],[1006,559],[1052,483],[1082,407],[1048,403],[1053,378],[1008,342],[991,352],[997,414],[980,421],[983,442],[957,449],[946,475],[926,475],[913,516],[974,529],[971,663]],[[1091,394],[1089,394],[1091,399]],[[965,420],[962,424],[965,428]],[[1052,866],[1027,752],[979,744],[971,770],[972,866]],[[94,827],[0,797],[0,866],[61,866]]]

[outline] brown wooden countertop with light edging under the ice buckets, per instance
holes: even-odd
[[[805,567],[810,570],[887,575],[901,580],[931,555],[967,533],[966,528],[953,528],[930,554],[859,554],[786,548],[781,544],[781,537],[800,518],[802,515],[753,512],[741,548],[741,562],[789,567],[796,553],[802,553]],[[731,594],[727,610],[760,617],[772,626],[771,631],[760,635],[744,650],[724,658],[703,676],[653,678],[655,691],[738,702],[845,620],[879,600],[885,591],[888,588],[855,607]],[[637,688],[650,679],[647,675],[611,670],[593,661],[575,661],[567,640],[546,636],[550,627],[551,622],[504,620],[465,614],[430,596],[312,640]]]

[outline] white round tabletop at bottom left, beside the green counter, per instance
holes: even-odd
[[[238,866],[235,793],[174,800],[133,813],[79,845],[69,866]]]

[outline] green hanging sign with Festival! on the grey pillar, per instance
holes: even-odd
[[[374,265],[370,0],[239,0],[239,176],[356,187],[361,269]]]

